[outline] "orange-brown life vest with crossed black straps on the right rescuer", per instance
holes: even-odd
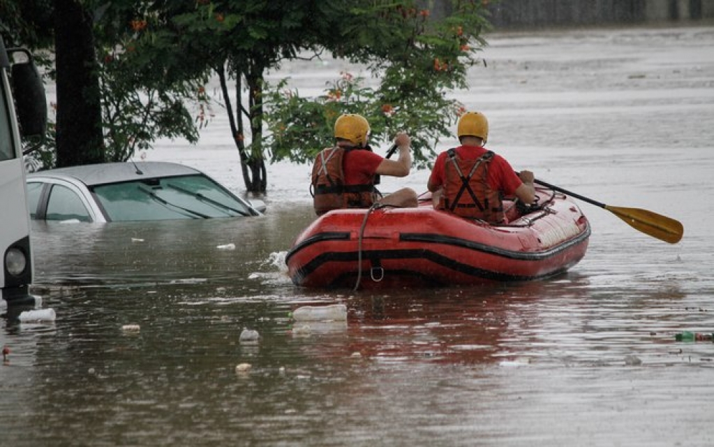
[[[488,166],[493,160],[493,152],[487,151],[478,159],[461,159],[455,149],[449,149],[447,154],[438,209],[489,224],[502,224],[505,217],[501,194],[488,184]]]

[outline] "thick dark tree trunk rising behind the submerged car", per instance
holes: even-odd
[[[104,162],[99,76],[91,16],[76,0],[54,0],[57,167]]]

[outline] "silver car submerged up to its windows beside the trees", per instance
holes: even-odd
[[[31,219],[162,221],[260,216],[253,203],[201,171],[164,161],[105,163],[27,174]]]

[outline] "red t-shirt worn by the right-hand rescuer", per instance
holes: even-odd
[[[456,154],[461,157],[461,159],[473,159],[476,160],[483,154],[486,154],[488,149],[479,146],[458,146],[456,148]],[[431,170],[431,176],[429,176],[429,185],[438,187],[444,184],[444,165],[446,164],[446,151],[436,157],[434,162],[434,167]],[[466,173],[464,174],[466,175]],[[516,171],[513,171],[511,164],[498,154],[493,154],[493,159],[491,159],[491,165],[488,166],[488,185],[491,189],[497,191],[503,191],[506,196],[513,196],[516,194],[516,189],[521,186],[523,181],[516,175]]]

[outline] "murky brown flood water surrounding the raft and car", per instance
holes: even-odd
[[[588,253],[548,281],[299,289],[283,257],[313,220],[310,167],[286,164],[269,167],[256,219],[35,223],[33,291],[56,321],[0,319],[0,445],[713,445],[714,343],[675,333],[714,332],[714,28],[488,40],[487,67],[458,97],[490,119],[491,149],[583,196],[678,219],[680,243],[580,203]],[[320,90],[341,69],[274,76]],[[226,129],[216,116],[198,147],[163,142],[146,159],[241,192]],[[423,191],[427,177],[383,188]],[[346,304],[347,323],[291,321],[313,303]],[[259,341],[241,343],[243,328]]]

